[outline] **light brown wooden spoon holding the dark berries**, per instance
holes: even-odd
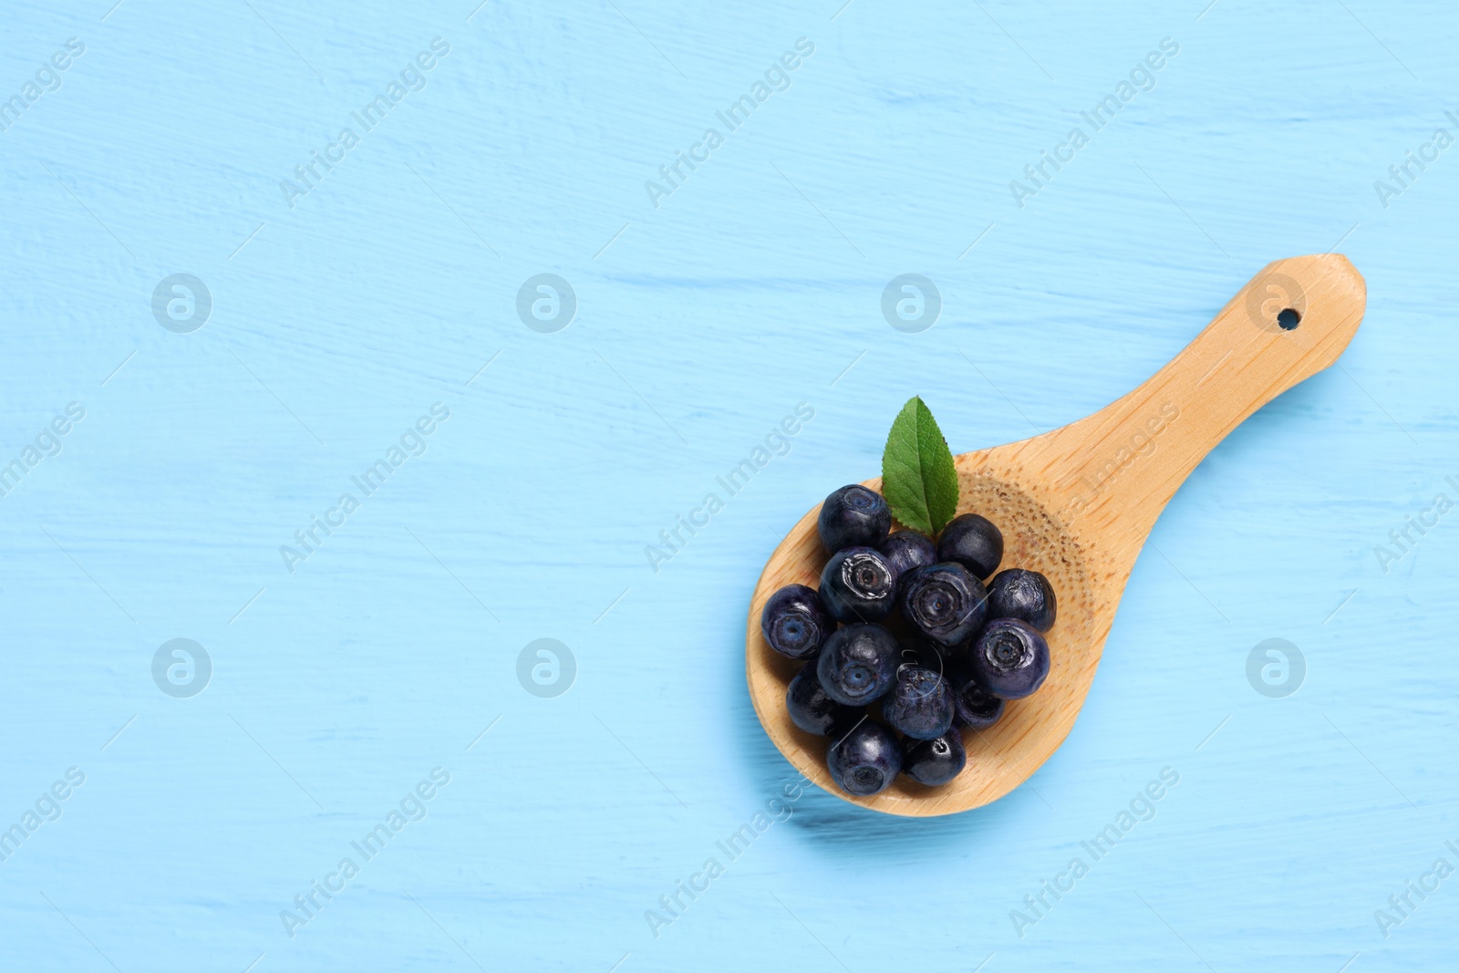
[[[941,788],[902,775],[875,796],[852,796],[826,770],[829,741],[798,729],[785,712],[785,689],[801,664],[765,642],[760,610],[783,585],[818,585],[826,554],[816,532],[820,506],[811,509],[775,548],[750,600],[746,678],[775,745],[821,788],[889,814],[966,811],[1029,779],[1074,726],[1160,511],[1243,419],[1336,360],[1363,321],[1366,293],[1342,255],[1278,260],[1123,398],[1042,436],[957,457],[959,513],[982,513],[1002,530],[1001,566],[1043,572],[1059,616],[1048,633],[1053,665],[1043,687],[1008,703],[991,729],[964,731],[967,767]],[[875,490],[881,480],[865,484]],[[829,493],[840,484],[826,486]]]

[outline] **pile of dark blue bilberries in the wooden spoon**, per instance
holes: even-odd
[[[805,662],[785,693],[791,721],[830,738],[826,766],[848,794],[880,794],[897,773],[947,783],[967,763],[959,728],[992,726],[1049,674],[1053,588],[1021,567],[985,586],[1004,543],[978,513],[935,541],[893,534],[886,499],[852,484],[826,497],[817,527],[820,591],[786,585],[760,614],[770,648]]]

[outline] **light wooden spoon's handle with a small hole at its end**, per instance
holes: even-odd
[[[1160,511],[1247,416],[1332,365],[1367,287],[1341,254],[1268,264],[1180,354],[1100,411],[1029,442],[1061,516],[1134,565]],[[1113,553],[1113,551],[1110,551]]]

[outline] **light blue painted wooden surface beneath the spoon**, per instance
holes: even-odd
[[[1459,513],[1386,570],[1374,546],[1459,499],[1459,149],[1390,198],[1374,181],[1459,136],[1450,6],[109,3],[3,15],[0,462],[23,476],[0,497],[0,824],[60,814],[0,862],[7,969],[1449,960],[1459,878],[1389,896],[1459,867]],[[716,112],[798,38],[730,131]],[[1094,131],[1080,112],[1163,38]],[[1087,144],[1020,207],[1010,181],[1072,127]],[[645,181],[706,128],[722,144],[655,207]],[[311,187],[312,152],[343,159]],[[813,788],[719,850],[794,782],[746,697],[750,588],[779,531],[877,471],[909,395],[957,451],[1058,426],[1269,260],[1339,245],[1369,283],[1342,369],[1180,490],[1030,786],[925,821]],[[212,298],[190,333],[152,306],[178,273]],[[516,312],[543,273],[576,295],[556,333]],[[918,334],[880,312],[903,273],[943,298]],[[655,572],[645,546],[798,403],[788,452]],[[280,547],[344,493],[290,570]],[[191,697],[152,674],[179,637],[212,662]],[[1285,699],[1247,683],[1269,637],[1306,659]],[[575,656],[565,694],[518,681],[535,639]]]

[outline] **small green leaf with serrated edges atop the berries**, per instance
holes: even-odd
[[[891,516],[935,537],[957,513],[953,451],[921,395],[897,413],[881,454],[881,495]]]

